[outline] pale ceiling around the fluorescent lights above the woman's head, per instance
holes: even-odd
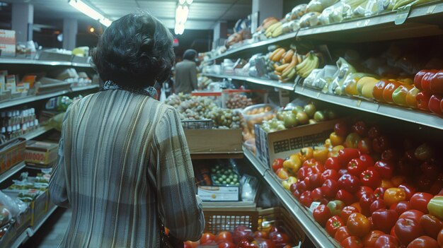
[[[68,4],[67,0],[0,0],[8,3],[30,3],[34,5],[34,18],[88,17]],[[173,29],[178,0],[83,0],[113,20],[141,8],[159,18]],[[210,30],[218,20],[238,20],[251,13],[252,0],[194,0],[189,9],[186,29]]]

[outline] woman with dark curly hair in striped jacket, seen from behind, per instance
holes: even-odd
[[[115,20],[93,51],[103,90],[74,102],[50,181],[71,207],[60,247],[160,247],[160,222],[198,240],[205,220],[178,113],[152,96],[173,65],[173,38],[148,13]]]

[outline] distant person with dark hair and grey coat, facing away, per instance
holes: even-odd
[[[176,64],[175,93],[191,93],[197,90],[197,64],[195,64],[197,51],[188,49],[183,54],[183,61]]]

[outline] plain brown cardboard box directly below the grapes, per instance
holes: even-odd
[[[241,129],[185,129],[191,154],[241,153]]]

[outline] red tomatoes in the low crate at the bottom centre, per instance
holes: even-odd
[[[197,242],[186,241],[185,248],[291,248],[291,243],[282,228],[270,226],[266,230],[253,232],[251,228],[238,225],[233,232],[222,231],[217,235],[205,232]]]

